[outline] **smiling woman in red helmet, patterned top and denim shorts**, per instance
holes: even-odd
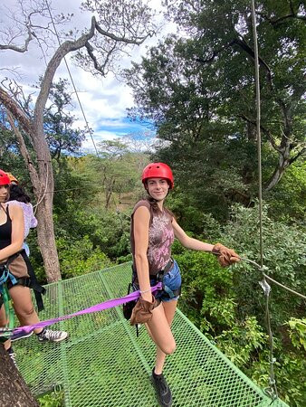
[[[177,261],[171,259],[171,245],[176,237],[187,249],[214,251],[222,266],[239,261],[231,249],[217,243],[198,241],[186,235],[173,214],[164,206],[174,186],[172,171],[163,163],[151,163],[143,170],[142,183],[148,200],[135,205],[131,216],[131,251],[133,255],[134,285],[140,289],[140,298],[133,308],[132,325],[145,323],[148,334],[157,345],[156,364],[152,381],[162,406],[172,404],[172,395],[162,374],[166,355],[176,350],[171,323],[177,308],[181,276]],[[150,287],[163,282],[163,290],[152,296]]]

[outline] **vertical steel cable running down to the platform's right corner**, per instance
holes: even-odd
[[[259,79],[259,58],[258,43],[256,30],[256,16],[254,0],[251,0],[251,16],[253,25],[253,48],[254,48],[254,66],[255,66],[255,88],[256,88],[256,132],[257,132],[257,158],[258,158],[258,199],[259,199],[259,236],[260,236],[260,263],[263,268],[263,176],[262,176],[262,138],[261,138],[261,96],[260,96],[260,79]],[[270,362],[270,383],[266,393],[276,400],[278,391],[275,383],[274,366],[275,358],[273,356],[273,332],[271,329],[271,317],[269,312],[269,296],[271,287],[267,283],[263,274],[263,281],[260,282],[265,295],[265,319],[269,334],[269,362]]]

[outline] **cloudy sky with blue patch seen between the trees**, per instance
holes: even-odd
[[[23,4],[30,3],[35,0],[23,0]],[[161,11],[159,0],[151,2],[152,7]],[[91,22],[91,14],[81,12],[81,0],[53,0],[51,3],[53,16],[55,14],[74,14],[72,22],[69,27],[77,27],[79,29],[89,27]],[[18,14],[20,6],[17,0],[5,0],[0,5],[0,33],[3,28],[8,24],[12,24],[12,13]],[[158,18],[158,24],[163,26],[161,33],[158,37],[148,39],[148,41],[139,47],[135,47],[130,56],[122,57],[120,60],[120,68],[128,68],[130,62],[139,62],[141,55],[145,55],[148,47],[158,43],[158,39],[167,33],[174,32],[176,27]],[[2,35],[3,38],[3,35]],[[3,40],[0,40],[3,43]],[[21,42],[20,42],[21,43]],[[52,55],[52,52],[50,52]],[[46,58],[47,60],[47,58]],[[91,73],[81,70],[72,63],[70,58],[67,60],[70,70],[72,71],[72,78],[78,90],[81,105],[85,112],[85,116],[89,123],[90,128],[93,129],[93,138],[95,143],[99,143],[106,139],[115,139],[122,137],[129,133],[143,133],[148,132],[148,128],[137,122],[131,122],[127,118],[127,109],[133,106],[132,90],[122,81],[116,79],[115,75],[111,72],[106,78],[93,77]],[[15,77],[10,71],[5,71],[4,68],[10,67],[18,72],[17,81],[23,84],[24,92],[32,93],[33,84],[37,83],[40,75],[45,70],[45,61],[42,52],[35,45],[29,44],[29,51],[20,53],[14,51],[1,51],[0,52],[0,77]],[[55,74],[55,80],[59,78],[69,79],[67,69],[64,62],[61,63]],[[70,79],[69,79],[70,82]],[[37,92],[37,90],[36,90]],[[35,94],[33,95],[33,99]],[[78,119],[75,122],[75,127],[84,128],[85,122],[81,115],[81,109],[78,101],[74,96],[72,113]],[[84,152],[93,151],[91,137],[88,135],[82,144]]]

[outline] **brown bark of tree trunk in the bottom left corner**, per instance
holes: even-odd
[[[1,407],[39,406],[2,344],[0,344],[0,383]]]

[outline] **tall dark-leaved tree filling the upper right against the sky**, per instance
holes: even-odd
[[[184,169],[205,179],[217,200],[249,204],[256,179],[250,2],[164,3],[185,36],[169,35],[127,71],[136,101],[130,114],[154,121],[179,177]],[[256,16],[269,191],[305,153],[305,9],[300,1],[264,1]]]

